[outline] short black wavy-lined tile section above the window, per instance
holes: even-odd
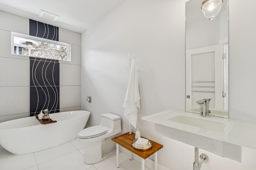
[[[59,41],[59,27],[29,20],[29,35]]]

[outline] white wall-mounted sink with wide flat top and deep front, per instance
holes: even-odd
[[[241,162],[241,146],[256,149],[256,123],[166,110],[142,117],[166,137]]]

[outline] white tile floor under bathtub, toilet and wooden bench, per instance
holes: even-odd
[[[141,164],[120,152],[119,168],[116,153],[96,164],[83,163],[83,144],[77,139],[30,154],[15,155],[0,146],[0,170],[141,170]],[[150,170],[145,167],[145,170]]]

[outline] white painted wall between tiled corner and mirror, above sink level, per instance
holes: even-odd
[[[82,34],[82,108],[92,111],[90,125],[107,111],[123,115],[129,53],[138,67],[140,114],[184,109],[185,27],[175,16],[184,6],[178,0],[145,2],[124,2]],[[92,96],[91,104],[86,96]]]

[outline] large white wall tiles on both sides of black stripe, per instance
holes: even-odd
[[[29,19],[0,11],[0,122],[28,117],[29,57],[11,55],[11,31],[29,35]],[[60,111],[81,108],[81,34],[59,28],[59,41],[70,43],[72,61],[60,61]]]

